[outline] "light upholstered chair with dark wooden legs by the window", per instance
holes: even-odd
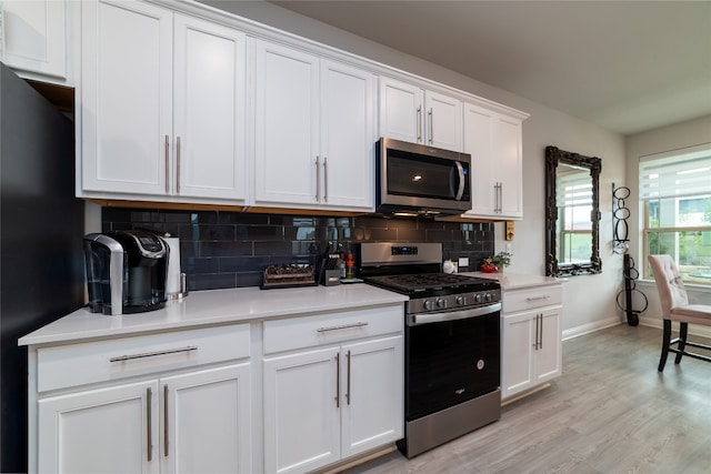
[[[670,255],[649,255],[652,265],[659,300],[662,304],[664,329],[662,335],[662,355],[659,360],[659,372],[664,370],[667,356],[670,352],[677,354],[674,364],[681,362],[683,355],[711,362],[711,356],[687,351],[687,346],[711,351],[711,346],[688,340],[689,323],[711,326],[711,305],[689,304],[684,283],[679,276],[679,270]],[[679,337],[671,339],[671,322],[679,322]],[[674,344],[677,345],[674,347]]]

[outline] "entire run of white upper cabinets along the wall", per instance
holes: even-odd
[[[81,12],[80,198],[373,212],[388,137],[471,152],[465,216],[522,216],[525,114],[192,2],[66,1],[0,4],[6,58],[12,11]]]

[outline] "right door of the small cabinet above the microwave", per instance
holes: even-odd
[[[427,144],[462,151],[462,102],[437,92],[424,92]]]

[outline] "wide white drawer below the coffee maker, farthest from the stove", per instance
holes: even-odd
[[[250,354],[249,324],[41,347],[38,391],[192,367]]]

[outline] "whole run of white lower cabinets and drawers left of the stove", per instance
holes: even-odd
[[[304,473],[392,444],[402,310],[30,346],[29,471]]]

